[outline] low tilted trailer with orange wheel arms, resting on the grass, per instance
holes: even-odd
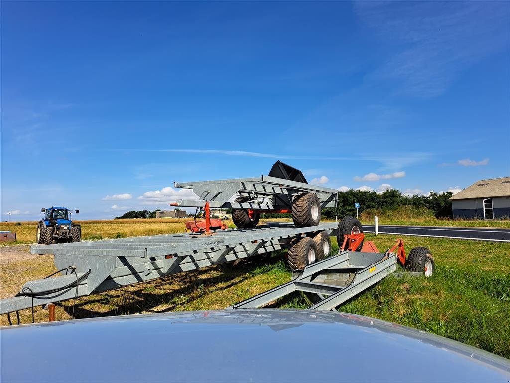
[[[236,303],[232,308],[260,308],[300,291],[312,302],[308,309],[335,310],[390,274],[432,275],[435,264],[429,249],[414,248],[407,257],[403,242],[398,240],[397,244],[385,253],[379,253],[371,242],[366,243],[362,251],[352,251],[352,248],[358,247],[363,236],[364,234],[345,235],[344,244],[337,255],[305,267],[303,272],[294,275],[290,282]],[[350,245],[348,241],[351,241]],[[343,251],[345,247],[348,247],[348,250]],[[398,251],[394,253],[397,248]],[[406,272],[395,273],[397,264],[405,267]]]

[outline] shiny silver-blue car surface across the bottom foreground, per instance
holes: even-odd
[[[510,361],[373,318],[237,309],[0,328],[0,381],[508,381]]]

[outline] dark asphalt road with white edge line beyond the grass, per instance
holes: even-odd
[[[363,225],[363,231],[367,233],[373,233],[374,225]],[[379,234],[415,235],[422,237],[457,238],[459,240],[510,242],[510,229],[497,229],[492,227],[470,228],[379,225]]]

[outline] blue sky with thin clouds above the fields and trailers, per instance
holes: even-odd
[[[167,209],[267,174],[462,189],[510,173],[509,3],[0,3],[0,213]]]

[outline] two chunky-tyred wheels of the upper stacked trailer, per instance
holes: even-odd
[[[239,197],[235,202],[248,202],[248,197]],[[297,195],[292,202],[292,221],[296,227],[317,226],[321,219],[319,197],[314,193]],[[260,210],[232,209],[232,221],[240,229],[253,229],[259,224]]]

